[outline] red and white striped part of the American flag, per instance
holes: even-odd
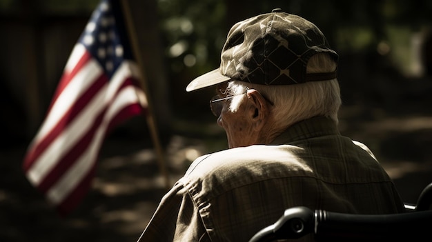
[[[30,183],[61,213],[72,210],[90,187],[106,132],[146,110],[146,96],[135,85],[138,78],[133,61],[123,61],[108,79],[81,43],[72,50],[23,164]]]

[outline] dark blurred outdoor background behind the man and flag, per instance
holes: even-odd
[[[402,198],[432,182],[432,1],[129,0],[164,163],[173,185],[200,154],[224,150],[190,80],[219,66],[230,26],[282,8],[315,23],[340,54],[342,134],[371,148]],[[97,0],[0,0],[0,241],[136,241],[167,192],[146,117],[108,135],[92,189],[69,216],[21,168]]]

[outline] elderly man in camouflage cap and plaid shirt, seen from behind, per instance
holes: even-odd
[[[273,10],[236,23],[220,67],[186,88],[215,88],[210,107],[230,149],[193,161],[140,241],[248,241],[299,205],[403,212],[371,150],[337,130],[337,59],[302,17]]]

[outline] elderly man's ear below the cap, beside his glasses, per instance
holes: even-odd
[[[266,99],[255,89],[248,90],[248,119],[250,119],[254,130],[261,130],[268,112],[270,112]]]

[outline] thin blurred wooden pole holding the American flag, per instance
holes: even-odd
[[[134,57],[138,63],[139,70],[141,72],[141,79],[139,79],[141,88],[143,88],[144,93],[146,94],[147,102],[148,102],[148,114],[146,115],[148,128],[150,130],[153,143],[155,145],[156,153],[157,153],[157,161],[159,162],[159,168],[162,176],[164,177],[166,189],[170,188],[170,181],[168,178],[168,173],[166,172],[164,152],[162,152],[161,143],[159,141],[159,135],[157,133],[155,117],[153,116],[153,105],[151,105],[151,99],[149,98],[148,87],[146,85],[146,78],[144,76],[145,68],[144,62],[141,59],[141,52],[139,50],[138,37],[135,31],[135,25],[132,19],[132,13],[130,12],[129,0],[118,0],[121,2],[122,10],[124,18],[126,19],[126,28],[128,29],[129,39],[131,42],[132,52],[134,53]]]

